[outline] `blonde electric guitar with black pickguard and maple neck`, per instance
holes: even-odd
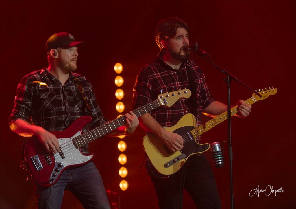
[[[253,104],[260,100],[266,99],[269,95],[276,94],[276,92],[277,89],[274,88],[266,88],[265,91],[262,89],[258,92],[260,95],[262,95],[262,97],[253,94],[251,98],[245,100],[244,102]],[[237,108],[238,106],[231,108],[231,116],[238,112]],[[210,144],[200,144],[197,143],[195,139],[206,131],[225,121],[227,118],[228,113],[225,111],[217,117],[207,121],[204,125],[196,127],[196,119],[194,115],[186,114],[177,122],[176,125],[165,128],[166,130],[178,133],[183,137],[185,140],[183,149],[172,152],[159,138],[151,133],[148,133],[143,139],[144,150],[152,165],[159,173],[163,175],[173,174],[178,171],[182,165],[184,165],[185,161],[191,155],[203,153],[210,148]]]

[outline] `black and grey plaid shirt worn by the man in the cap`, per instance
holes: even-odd
[[[78,77],[85,91],[92,114],[75,85],[75,76]],[[22,78],[17,87],[15,106],[8,122],[11,125],[16,119],[26,121],[31,119],[34,125],[41,126],[47,131],[61,131],[83,115],[93,117],[90,127],[107,121],[96,102],[91,83],[80,74],[70,73],[69,78],[62,85],[44,68]],[[88,129],[89,127],[84,127],[83,131]]]

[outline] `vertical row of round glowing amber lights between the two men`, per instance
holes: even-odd
[[[120,74],[122,71],[123,71],[123,66],[122,64],[120,63],[116,63],[115,66],[114,66],[114,70],[117,74]],[[123,77],[121,77],[120,75],[116,76],[115,78],[115,85],[118,86],[118,87],[121,87],[123,85]],[[118,100],[121,100],[123,97],[124,97],[124,91],[120,88],[118,88],[115,92],[115,96]],[[119,113],[122,113],[125,109],[125,106],[124,106],[124,103],[121,102],[121,101],[118,101],[118,103],[116,104],[116,110],[119,112]],[[118,115],[117,117],[120,117],[122,116],[121,114]],[[125,137],[125,135],[122,135],[122,136],[118,136],[120,139],[123,139]],[[118,142],[118,150],[123,152],[126,150],[126,142],[125,141],[119,141]],[[125,154],[121,153],[118,157],[118,162],[121,164],[121,165],[125,165],[126,162],[127,162],[127,157]],[[128,175],[128,170],[126,169],[126,167],[122,166],[120,167],[119,171],[119,176],[121,178],[125,178],[127,175]],[[124,179],[122,179],[119,183],[119,187],[122,191],[125,191],[128,189],[128,182]]]

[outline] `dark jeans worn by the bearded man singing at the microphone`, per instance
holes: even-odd
[[[182,208],[183,189],[190,194],[197,208],[221,208],[215,177],[204,155],[192,155],[183,167],[168,179],[157,178],[154,174],[161,175],[153,165],[148,164],[146,167],[160,208]]]

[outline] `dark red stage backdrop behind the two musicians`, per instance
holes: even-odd
[[[114,64],[120,62],[124,68],[126,113],[137,73],[159,51],[153,38],[155,26],[170,16],[185,20],[191,27],[190,42],[198,42],[216,64],[250,87],[278,88],[276,95],[255,103],[249,117],[232,120],[234,200],[236,208],[295,208],[295,2],[1,1],[1,208],[37,208],[25,190],[26,172],[18,167],[24,138],[10,131],[7,118],[20,79],[47,66],[46,39],[68,32],[88,43],[79,52],[77,72],[89,78],[105,116],[114,119],[118,115]],[[192,59],[205,72],[213,97],[226,103],[223,75],[205,60],[195,55]],[[232,82],[232,104],[251,95]],[[124,138],[129,188],[120,193],[121,208],[158,208],[150,178],[139,176],[143,135],[139,127]],[[203,136],[204,143],[225,140],[227,122]],[[118,141],[106,137],[91,144],[105,188],[112,192],[120,191]],[[229,208],[228,162],[214,173],[222,207]],[[258,185],[284,192],[250,197]],[[28,193],[36,198],[31,182]],[[82,206],[65,192],[62,208]],[[184,208],[195,208],[186,193]]]

